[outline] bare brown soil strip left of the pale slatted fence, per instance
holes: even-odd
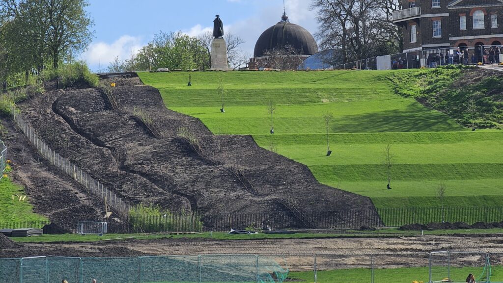
[[[5,116],[0,119],[7,130],[3,141],[8,148],[8,158],[12,161],[13,171],[9,176],[25,188],[34,212],[71,229],[76,229],[78,221],[103,219],[104,205],[100,199],[45,163],[11,120]],[[109,222],[114,224],[111,219]]]

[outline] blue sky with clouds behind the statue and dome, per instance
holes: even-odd
[[[198,36],[213,31],[213,19],[220,15],[224,33],[242,39],[240,48],[253,55],[255,43],[283,14],[283,0],[89,0],[86,8],[94,19],[93,42],[79,59],[93,71],[106,71],[116,56],[131,58],[159,31],[181,31]],[[285,0],[290,22],[312,34],[317,31],[310,0]]]

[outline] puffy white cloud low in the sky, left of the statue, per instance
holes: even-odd
[[[104,70],[115,57],[119,56],[121,60],[129,59],[131,52],[136,54],[145,44],[141,37],[123,35],[111,44],[92,43],[89,49],[82,54],[82,59],[90,66],[101,65],[101,69]]]

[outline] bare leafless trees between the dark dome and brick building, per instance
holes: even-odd
[[[340,49],[343,62],[398,52],[401,31],[392,22],[398,0],[312,0],[323,49]]]

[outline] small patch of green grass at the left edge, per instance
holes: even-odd
[[[0,180],[0,226],[3,223],[48,220],[44,216],[33,213],[33,206],[30,204],[30,196],[26,196],[24,201],[19,201],[19,197],[16,195],[26,196],[24,188],[13,183],[8,176],[3,177],[2,180]]]

